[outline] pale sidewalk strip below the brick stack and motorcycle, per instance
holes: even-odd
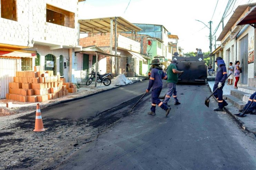
[[[47,102],[37,102],[37,103],[23,103],[23,102],[17,102],[13,100],[7,100],[7,99],[0,99],[0,116],[8,116],[8,115],[14,115],[19,113],[25,113],[30,111],[35,111],[36,105],[39,103],[40,108],[45,108],[51,105],[56,105],[63,102],[68,102],[75,99],[80,99],[92,94],[100,93],[102,91],[107,91],[110,89],[118,88],[120,86],[114,86],[110,84],[109,86],[100,85],[100,83],[97,83],[97,87],[94,87],[94,82],[90,86],[82,87],[78,89],[77,93],[69,93],[69,95],[57,98],[55,100],[48,100]],[[6,103],[12,102],[12,107],[7,108]]]

